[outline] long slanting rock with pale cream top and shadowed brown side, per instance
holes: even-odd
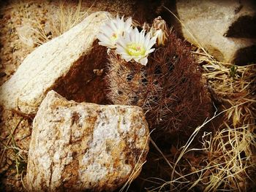
[[[108,12],[95,12],[34,50],[0,87],[0,104],[7,110],[35,114],[50,90],[75,101],[104,102],[105,82],[93,70],[104,68],[106,50],[95,40],[110,17]]]

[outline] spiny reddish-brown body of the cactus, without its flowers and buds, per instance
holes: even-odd
[[[176,131],[191,134],[210,115],[211,100],[190,50],[170,31],[166,45],[148,56],[146,66],[110,51],[108,99],[142,107],[159,137]]]

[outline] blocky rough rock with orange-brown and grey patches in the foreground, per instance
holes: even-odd
[[[49,91],[33,121],[29,190],[113,191],[140,173],[148,134],[140,107],[77,103]]]

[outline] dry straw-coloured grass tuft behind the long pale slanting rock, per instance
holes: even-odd
[[[95,2],[96,0],[92,2],[91,7],[94,6]],[[71,8],[70,2],[59,1],[59,5],[56,7],[56,14],[50,17],[50,21],[45,21],[42,18],[38,18],[38,15],[33,15],[31,17],[27,10],[27,4],[28,2],[17,1],[13,3],[12,7],[10,8],[18,9],[20,15],[23,16],[23,26],[27,26],[28,31],[33,32],[28,33],[25,36],[19,35],[19,38],[23,42],[28,42],[29,47],[42,45],[45,42],[48,42],[50,39],[64,34],[64,32],[76,26],[84,18],[86,18],[91,9],[91,7],[89,7],[89,9],[83,10],[82,0],[79,0],[78,4],[74,4],[74,6]],[[50,31],[48,31],[49,28]]]

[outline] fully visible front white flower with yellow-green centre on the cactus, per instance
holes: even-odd
[[[151,47],[156,43],[157,37],[150,37],[145,31],[138,31],[133,28],[129,33],[124,34],[116,42],[116,53],[121,55],[125,61],[134,59],[136,62],[146,65],[148,63],[148,54],[154,51]]]

